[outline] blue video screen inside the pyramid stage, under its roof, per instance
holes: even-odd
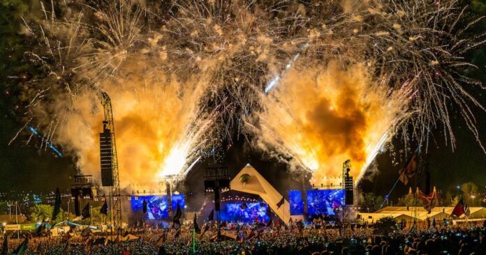
[[[268,222],[266,203],[226,203],[226,210],[221,213],[221,220],[226,222]]]

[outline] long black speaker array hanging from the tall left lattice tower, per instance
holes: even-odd
[[[101,185],[113,186],[112,136],[103,121],[103,133],[100,133]]]

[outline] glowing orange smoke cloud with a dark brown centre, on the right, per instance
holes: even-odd
[[[360,64],[296,66],[264,101],[256,146],[311,171],[316,185],[337,184],[346,160],[361,178],[402,117],[403,92],[379,90]]]

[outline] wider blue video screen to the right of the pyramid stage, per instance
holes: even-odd
[[[334,215],[334,209],[343,204],[344,190],[307,190],[309,215]]]

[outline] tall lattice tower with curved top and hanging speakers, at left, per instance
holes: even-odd
[[[103,132],[100,133],[101,185],[110,189],[110,212],[112,231],[116,230],[117,237],[121,235],[121,194],[118,172],[117,144],[115,141],[115,124],[110,97],[101,93],[105,120]]]

